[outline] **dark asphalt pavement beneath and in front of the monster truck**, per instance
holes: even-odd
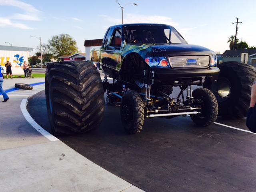
[[[28,100],[32,118],[48,132],[44,91]],[[118,106],[105,106],[96,130],[58,136],[89,160],[145,191],[254,191],[256,136],[246,119],[218,117],[208,127],[189,116],[146,119],[138,134],[122,128]]]

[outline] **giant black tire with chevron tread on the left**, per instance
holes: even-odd
[[[55,135],[84,133],[102,122],[104,90],[100,74],[91,62],[48,64],[45,95]]]

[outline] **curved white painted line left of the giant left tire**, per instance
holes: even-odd
[[[30,114],[28,113],[28,111],[26,109],[26,103],[27,103],[27,99],[22,99],[22,102],[20,104],[20,109],[22,111],[23,116],[26,118],[26,120],[29,122],[29,124],[32,127],[34,127],[38,132],[40,132],[43,136],[48,138],[48,140],[50,140],[50,141],[58,141],[59,140],[58,138],[54,137],[52,134],[50,134],[49,132],[44,130],[40,125],[38,125],[34,121],[34,119],[30,116]]]

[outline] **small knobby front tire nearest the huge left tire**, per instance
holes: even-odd
[[[128,90],[121,99],[120,116],[124,129],[130,134],[135,134],[142,130],[144,124],[143,102],[134,90]]]

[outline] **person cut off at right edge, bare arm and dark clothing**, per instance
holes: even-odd
[[[246,118],[246,126],[253,133],[256,133],[256,81],[252,85],[251,102]]]

